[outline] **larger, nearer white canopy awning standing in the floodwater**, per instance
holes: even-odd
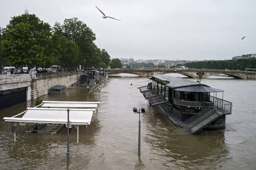
[[[72,125],[90,124],[95,109],[70,108],[69,120]],[[22,112],[22,118],[15,115],[11,118],[4,117],[4,121],[20,123],[41,123],[41,124],[67,124],[67,108],[27,108]]]

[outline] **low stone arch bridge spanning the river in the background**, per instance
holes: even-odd
[[[235,79],[256,79],[256,72],[253,71],[242,71],[242,70],[215,70],[215,69],[110,69],[109,75],[119,74],[119,73],[129,73],[142,77],[149,77],[151,75],[163,75],[166,73],[179,73],[181,75],[187,76],[189,78],[198,78],[198,71],[204,73],[202,78],[207,78],[208,76],[218,76],[226,75],[233,77]]]

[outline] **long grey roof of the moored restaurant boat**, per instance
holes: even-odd
[[[220,89],[214,89],[206,84],[200,84],[195,81],[190,81],[184,78],[176,78],[167,75],[154,75],[150,79],[156,79],[164,82],[164,86],[175,89],[175,91],[186,91],[186,92],[223,92]]]

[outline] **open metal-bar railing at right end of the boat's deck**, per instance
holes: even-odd
[[[218,108],[218,111],[221,111],[222,113],[228,115],[232,113],[232,103],[227,101],[227,100],[223,100],[220,99],[218,97],[214,97],[212,95],[210,95],[210,100],[211,102],[214,103],[214,106]]]

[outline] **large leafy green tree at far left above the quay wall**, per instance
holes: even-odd
[[[51,54],[51,26],[35,14],[14,16],[2,31],[2,57],[6,65],[46,66]]]

